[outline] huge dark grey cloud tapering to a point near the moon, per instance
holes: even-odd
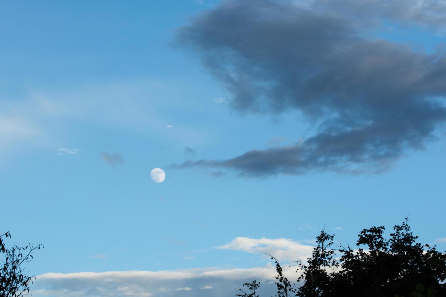
[[[245,176],[392,168],[405,153],[424,149],[446,121],[446,56],[372,36],[386,21],[437,32],[445,21],[436,11],[446,4],[227,0],[196,16],[178,28],[176,43],[192,49],[226,87],[233,110],[296,110],[318,128],[289,146],[172,167]]]

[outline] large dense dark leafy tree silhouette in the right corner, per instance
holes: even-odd
[[[446,252],[417,243],[408,221],[395,225],[389,239],[383,237],[384,226],[363,229],[355,250],[342,245],[336,250],[334,235],[322,230],[312,256],[306,263],[297,261],[297,283],[302,285],[289,282],[272,257],[276,296],[446,297]]]

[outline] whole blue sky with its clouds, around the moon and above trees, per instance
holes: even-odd
[[[231,296],[231,288],[245,280],[271,280],[274,269],[264,252],[290,263],[297,260],[294,255],[308,255],[324,226],[336,240],[353,244],[363,228],[389,230],[405,216],[421,242],[446,249],[445,90],[428,81],[441,82],[438,73],[444,69],[442,20],[432,12],[438,3],[409,9],[395,1],[385,10],[381,1],[367,2],[375,10],[366,16],[347,0],[259,3],[270,7],[248,0],[0,4],[0,232],[10,231],[17,244],[45,245],[29,263],[38,276],[34,296]],[[339,8],[333,14],[327,12],[332,4]],[[349,20],[339,25],[345,27],[341,36],[354,24],[354,38],[339,37],[345,50],[355,47],[352,55],[364,55],[358,61],[381,63],[395,81],[380,81],[365,63],[356,76],[370,85],[350,80],[350,89],[335,94],[316,84],[328,91],[321,99],[314,95],[310,107],[296,94],[319,94],[310,90],[314,85],[284,97],[267,90],[273,85],[291,90],[286,75],[312,71],[274,57],[294,57],[294,44],[285,35],[283,45],[266,42],[269,35],[260,30],[264,24],[257,20],[270,17],[273,34],[288,32],[280,31],[286,23],[275,27],[280,5],[316,16],[296,15],[308,22],[296,33],[303,36],[300,44],[318,44],[318,56],[308,57],[311,69],[331,67],[327,73],[336,69],[348,78],[343,59],[319,53],[338,35],[329,32],[330,38],[317,40],[325,33],[312,22]],[[265,18],[249,17],[256,13]],[[251,33],[240,24],[229,28],[226,21],[237,16],[246,16],[241,22]],[[306,41],[302,32],[315,38]],[[261,48],[253,46],[255,33],[265,34]],[[388,56],[363,53],[363,44],[389,50]],[[287,47],[290,51],[281,53]],[[400,64],[391,68],[393,60],[383,57],[401,57],[401,65],[405,58],[415,62],[407,71]],[[431,60],[435,71],[418,71]],[[417,89],[400,79],[401,71]],[[405,88],[417,96],[400,100]],[[384,103],[376,107],[365,92]],[[340,93],[363,101],[344,106],[336,101]],[[388,103],[392,100],[396,103]],[[420,132],[415,136],[401,129],[395,144],[370,124],[382,119],[391,130],[394,122],[382,116],[386,110],[395,118],[401,110],[406,120],[411,103],[401,102],[418,102],[414,106],[421,110],[427,100],[438,102],[438,113],[412,114],[410,126]],[[368,106],[364,112],[363,106]],[[320,115],[318,108],[329,111]],[[320,155],[326,145],[320,140],[323,125],[338,127],[332,115],[351,132],[344,112],[364,116],[360,120],[368,126],[359,120],[355,125],[365,131],[371,125],[378,144],[367,146],[361,157],[357,151]],[[437,115],[436,122],[427,120]],[[315,151],[307,143],[317,146]],[[346,143],[352,151],[355,145]],[[252,150],[260,159],[244,161]],[[308,158],[305,167],[286,161],[287,150]],[[118,154],[123,162],[104,162],[101,153]],[[277,165],[282,160],[285,164]],[[163,183],[150,179],[156,167],[166,172]]]

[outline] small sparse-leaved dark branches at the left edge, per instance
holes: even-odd
[[[21,297],[29,294],[29,284],[36,279],[35,276],[28,276],[29,272],[23,267],[33,259],[33,252],[43,248],[42,244],[34,247],[33,244],[25,248],[13,244],[12,248],[6,248],[4,238],[11,238],[9,232],[0,236],[0,255],[2,258],[2,268],[0,270],[0,296],[1,297]]]

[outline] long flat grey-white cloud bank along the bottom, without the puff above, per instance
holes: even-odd
[[[286,273],[295,269],[287,267]],[[262,292],[273,294],[275,267],[246,269],[195,268],[164,271],[109,271],[102,273],[45,273],[37,276],[33,296],[185,296],[223,297],[235,295],[236,288],[254,279],[264,281]]]

